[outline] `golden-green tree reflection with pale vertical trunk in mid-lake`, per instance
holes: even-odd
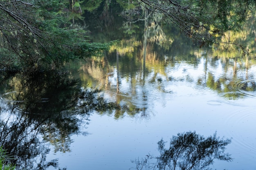
[[[121,40],[119,44],[110,47],[104,60],[103,57],[101,60],[93,58],[91,63],[88,62],[86,66],[83,66],[83,71],[88,73],[88,75],[84,74],[87,78],[83,79],[92,79],[92,82],[96,80],[97,87],[110,91],[111,99],[115,99],[119,104],[120,109],[116,110],[116,118],[124,114],[133,116],[141,113],[141,115],[146,115],[145,110],[148,107],[146,100],[151,93],[144,89],[147,88],[148,83],[155,85],[155,82],[159,82],[162,77],[168,79],[166,65],[175,66],[173,56],[176,54],[174,51],[170,53],[166,50],[177,48],[174,43],[171,43],[171,37],[177,32],[167,36],[162,26],[155,21],[157,19],[149,19],[150,13],[147,12],[144,13],[144,18],[148,18],[148,20],[144,20],[144,34],[140,33],[143,36],[143,41],[137,41],[133,36],[129,40]],[[170,53],[170,57],[166,53]],[[196,65],[198,58],[194,55],[191,56],[190,52],[188,55],[189,60]],[[183,54],[179,54],[178,57],[180,56],[184,57]],[[122,86],[123,84],[124,86]],[[157,89],[162,89],[161,83],[158,83]],[[145,96],[141,102],[144,106],[142,104],[136,106],[137,103],[132,102],[134,96]]]

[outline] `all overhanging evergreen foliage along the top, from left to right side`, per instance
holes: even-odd
[[[254,0],[2,0],[0,69],[33,72],[98,55],[109,44],[88,41],[83,13],[101,11],[97,16],[108,26],[114,20],[113,9],[122,9],[120,15],[132,23],[155,14],[157,22],[174,23],[200,46],[236,44],[249,54],[247,47],[220,37],[242,29],[255,4]]]

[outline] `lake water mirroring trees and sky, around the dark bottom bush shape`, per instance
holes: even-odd
[[[135,161],[147,155],[141,169],[150,169],[158,141],[167,148],[189,131],[231,139],[233,161],[210,168],[256,169],[254,54],[199,49],[177,30],[157,29],[106,34],[120,42],[63,74],[2,75],[1,144],[20,169],[140,169]]]

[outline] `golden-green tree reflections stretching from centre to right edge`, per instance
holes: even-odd
[[[92,66],[85,66],[84,69],[84,71],[90,73],[92,82],[97,82],[101,88],[110,91],[111,99],[116,99],[117,103],[124,104],[121,110],[116,110],[116,118],[125,113],[128,113],[128,115],[138,113],[136,110],[137,106],[130,101],[131,97],[137,95],[150,95],[150,93],[138,93],[138,91],[141,92],[146,87],[142,86],[142,84],[145,84],[145,80],[146,85],[153,85],[154,89],[169,93],[169,91],[165,91],[164,83],[168,82],[168,80],[175,81],[176,75],[174,72],[175,69],[180,67],[180,63],[186,63],[186,66],[189,68],[194,66],[193,68],[195,70],[204,62],[205,70],[203,75],[199,75],[200,77],[193,76],[189,71],[187,73],[184,72],[182,77],[178,77],[182,78],[179,80],[193,82],[193,78],[195,77],[198,80],[195,83],[203,88],[211,88],[218,93],[224,92],[226,93],[226,97],[237,99],[242,96],[240,93],[237,93],[238,89],[236,85],[243,79],[253,78],[252,75],[247,74],[250,66],[255,63],[253,56],[240,58],[238,57],[240,55],[238,51],[232,51],[230,53],[227,53],[227,51],[220,52],[216,50],[216,45],[210,47],[213,51],[195,49],[195,42],[188,39],[175,26],[160,24],[159,20],[161,18],[157,18],[160,16],[145,10],[142,6],[139,9],[141,12],[140,15],[136,16],[135,6],[129,6],[130,4],[125,2],[123,3],[122,7],[124,7],[125,11],[123,16],[126,17],[123,22],[128,26],[124,26],[120,30],[109,30],[98,33],[101,38],[115,33],[115,36],[118,35],[118,38],[121,38],[120,43],[110,47],[110,51],[105,54],[104,60],[103,57],[101,59],[94,58],[91,64]],[[139,20],[137,20],[138,18]],[[116,24],[120,23],[118,21]],[[254,27],[253,25],[255,25],[252,22],[247,24],[250,27]],[[140,29],[132,30],[129,25]],[[131,34],[123,35],[122,31],[130,31]],[[252,36],[249,32],[249,29],[245,26],[245,30],[238,33],[239,35],[234,38],[240,40],[242,36],[243,42],[252,43],[254,35]],[[246,37],[249,38],[248,41]],[[250,47],[252,47],[252,44]],[[117,53],[119,55],[118,64]],[[232,66],[233,58],[235,60],[234,66]],[[243,64],[245,62],[244,59],[246,59],[246,68]],[[87,63],[87,65],[89,64]],[[116,70],[117,66],[119,67],[118,71]],[[216,71],[220,67],[222,69],[221,76]],[[234,74],[230,73],[230,68],[233,69],[232,73]],[[243,73],[244,69],[247,75],[241,77],[240,73]],[[169,74],[170,71],[173,71],[171,76]]]

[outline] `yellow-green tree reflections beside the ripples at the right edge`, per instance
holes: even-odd
[[[218,57],[207,57],[205,60],[205,77],[198,79],[198,84],[202,85],[202,79],[205,79],[205,85],[212,90],[225,94],[225,98],[238,99],[243,97],[243,93],[238,91],[255,91],[254,88],[254,75],[248,74],[249,69],[254,64],[254,60],[249,60],[249,57],[245,58],[234,58],[230,60],[222,61],[219,65]],[[207,63],[209,62],[209,63]],[[217,64],[218,63],[218,64]],[[213,68],[221,68],[223,73],[218,75],[218,72],[209,71]],[[244,82],[248,80],[248,82]]]

